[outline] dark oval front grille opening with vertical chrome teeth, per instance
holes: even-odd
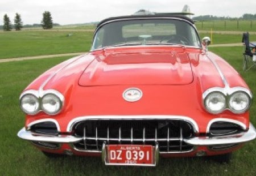
[[[102,144],[158,143],[160,153],[190,152],[193,126],[183,120],[87,120],[76,123],[72,131],[83,140],[73,144],[78,151],[101,152]]]

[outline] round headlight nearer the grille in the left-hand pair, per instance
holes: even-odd
[[[42,98],[42,109],[49,115],[59,113],[62,108],[62,102],[58,96],[53,93],[47,93]]]

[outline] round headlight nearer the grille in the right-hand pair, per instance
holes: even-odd
[[[211,92],[205,97],[205,108],[209,113],[218,114],[226,108],[226,98],[221,92]]]

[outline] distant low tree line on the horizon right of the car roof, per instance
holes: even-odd
[[[193,17],[193,20],[201,21],[201,20],[256,20],[256,14],[243,14],[239,18],[232,18],[230,16],[213,16],[213,15],[200,15]]]

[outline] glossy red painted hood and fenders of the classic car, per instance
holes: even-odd
[[[228,63],[212,53],[209,57],[216,59],[230,87],[247,88]],[[202,93],[224,84],[216,67],[200,49],[141,46],[98,50],[53,67],[26,89],[38,89],[59,68],[62,69],[44,89],[55,89],[64,95],[63,110],[53,116],[27,115],[26,126],[39,119],[53,118],[61,132],[66,132],[73,118],[87,115],[181,115],[195,120],[203,134],[213,118],[230,118],[249,126],[248,112],[237,115],[224,111],[213,115],[205,111]],[[123,91],[131,87],[141,89],[141,100],[123,99]]]

